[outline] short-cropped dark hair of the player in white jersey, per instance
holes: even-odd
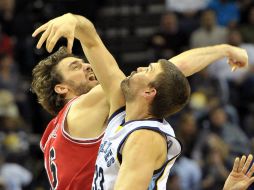
[[[157,91],[150,105],[150,113],[157,118],[180,111],[188,102],[190,85],[184,74],[171,62],[160,59],[162,72],[149,85]]]

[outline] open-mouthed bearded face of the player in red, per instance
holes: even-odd
[[[85,94],[98,84],[93,70],[88,63],[76,57],[64,58],[57,66],[63,76],[63,83],[75,93]]]

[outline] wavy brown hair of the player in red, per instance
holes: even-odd
[[[32,71],[31,90],[37,95],[42,107],[52,115],[57,115],[66,103],[65,97],[57,94],[54,88],[63,81],[56,66],[67,57],[75,56],[68,53],[66,47],[60,47],[54,54],[40,61]]]

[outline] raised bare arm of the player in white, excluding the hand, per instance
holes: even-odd
[[[76,36],[110,102],[110,115],[125,105],[120,84],[125,75],[118,67],[115,58],[107,50],[93,24],[84,17],[76,16],[78,23]]]

